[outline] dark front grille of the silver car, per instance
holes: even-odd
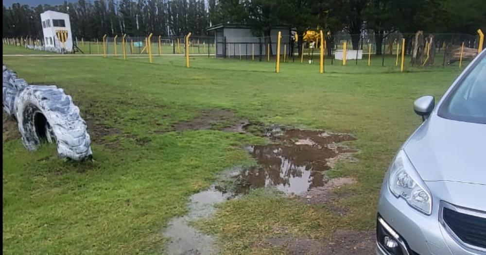
[[[442,218],[459,239],[469,245],[486,249],[486,218],[454,211],[447,207],[444,207],[442,213]]]

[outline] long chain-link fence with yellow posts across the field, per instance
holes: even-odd
[[[423,34],[423,41],[428,40],[430,34]],[[462,44],[466,50],[474,50],[479,47],[479,36],[471,34],[433,34],[433,46],[429,46],[427,58],[420,61],[428,61],[428,55],[433,54],[434,58],[428,67],[447,67],[458,65],[457,51],[461,50]],[[319,36],[318,36],[319,37]],[[324,65],[346,65],[355,66],[381,66],[397,68],[401,64],[402,42],[404,40],[404,65],[406,67],[421,68],[422,62],[413,61],[415,47],[415,33],[373,33],[365,31],[362,34],[325,34],[326,48],[324,51]],[[276,36],[246,36],[224,37],[221,34],[213,36],[190,36],[189,44],[186,45],[185,36],[130,36],[105,37],[98,40],[87,40],[74,38],[75,54],[106,55],[107,57],[121,57],[123,53],[134,58],[134,56],[147,57],[149,50],[152,56],[179,56],[180,62],[185,65],[186,53],[191,57],[208,57],[217,59],[235,59],[258,62],[272,62],[275,64],[277,54],[280,54],[280,62],[305,63],[319,65],[321,52],[320,38],[303,40],[301,36],[296,38],[291,34],[282,34],[280,48]],[[21,47],[43,50],[43,40],[4,38],[4,44],[18,45]],[[427,41],[426,41],[427,42]],[[423,42],[422,42],[423,43]],[[33,45],[31,45],[33,44]],[[344,47],[346,45],[346,51]],[[150,46],[150,47],[149,47]],[[45,49],[44,49],[45,50]],[[423,49],[422,49],[423,51]],[[477,50],[476,50],[477,52]],[[422,52],[424,53],[424,52]],[[148,58],[148,57],[147,57]],[[452,60],[451,60],[452,58]],[[184,59],[184,60],[182,60]],[[470,54],[465,55],[465,65],[471,59]],[[456,60],[458,61],[458,60]],[[430,62],[430,61],[429,61]],[[429,63],[428,63],[429,64]],[[181,64],[182,65],[182,64]],[[201,65],[211,64],[205,63]],[[245,67],[241,67],[245,68]],[[394,69],[396,70],[396,69]]]

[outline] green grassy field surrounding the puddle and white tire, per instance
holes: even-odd
[[[4,46],[3,54],[31,53],[19,49]],[[64,88],[96,129],[88,129],[94,161],[71,163],[57,159],[52,146],[27,152],[3,117],[3,253],[163,253],[160,233],[187,211],[189,196],[225,168],[248,162],[245,144],[264,142],[216,130],[174,131],[177,122],[215,108],[265,124],[348,132],[360,150],[357,163],[332,171],[358,181],[344,188],[353,194],[339,205],[346,216],[254,192],[197,222],[219,237],[223,253],[262,253],[252,244],[276,229],[308,238],[336,228],[372,229],[383,173],[421,121],[413,101],[424,94],[438,100],[460,72],[399,73],[390,64],[395,59],[385,61],[388,67],[327,62],[325,74],[315,64],[284,63],[276,74],[274,63],[207,57],[192,57],[188,69],[176,56],[156,57],[152,65],[146,57],[4,56],[29,83]]]

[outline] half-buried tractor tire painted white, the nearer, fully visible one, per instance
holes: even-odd
[[[69,95],[56,86],[29,85],[15,99],[15,112],[22,143],[30,151],[42,140],[55,142],[61,158],[91,157],[86,122]]]

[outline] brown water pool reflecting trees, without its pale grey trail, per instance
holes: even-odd
[[[267,132],[267,136],[273,143],[247,147],[258,166],[239,176],[241,193],[255,187],[276,187],[285,193],[303,194],[324,186],[323,171],[330,169],[330,161],[349,152],[337,143],[355,139],[347,134],[279,128]]]

